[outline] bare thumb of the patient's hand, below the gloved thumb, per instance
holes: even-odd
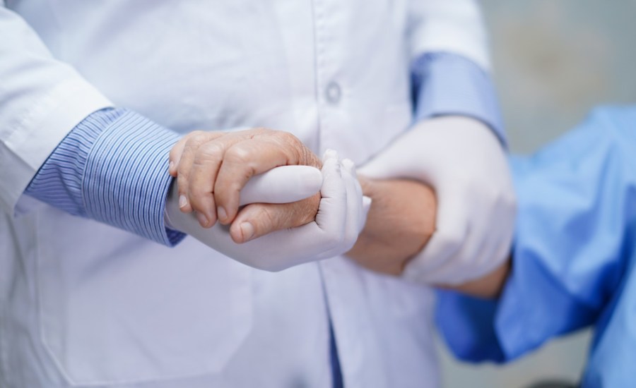
[[[314,221],[320,194],[292,203],[253,203],[245,206],[230,226],[235,243],[245,243],[273,231],[295,228]]]

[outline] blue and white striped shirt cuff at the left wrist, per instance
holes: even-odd
[[[25,193],[61,210],[172,246],[184,234],[163,213],[172,177],[168,153],[179,138],[126,109],[97,111],[73,128]]]

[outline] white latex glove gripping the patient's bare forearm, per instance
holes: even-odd
[[[516,200],[502,146],[480,121],[446,116],[418,123],[358,169],[370,178],[410,178],[437,196],[435,233],[404,277],[462,284],[510,254]]]

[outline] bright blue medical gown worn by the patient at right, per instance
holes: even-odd
[[[510,277],[497,301],[440,291],[440,332],[459,358],[505,362],[593,325],[583,387],[636,387],[636,107],[596,109],[511,166]]]

